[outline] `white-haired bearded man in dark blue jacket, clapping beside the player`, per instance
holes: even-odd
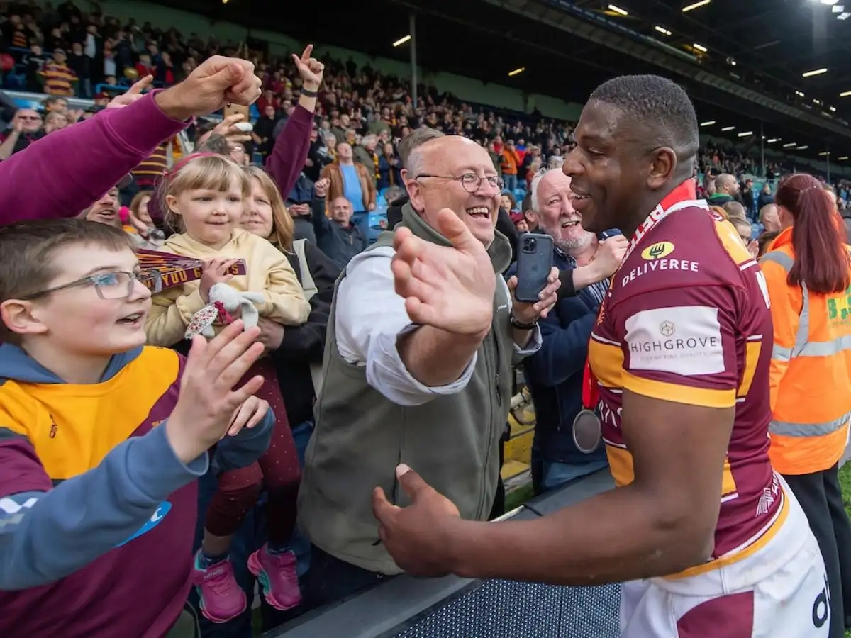
[[[563,171],[541,170],[530,193],[538,231],[555,244],[553,265],[571,279],[578,268],[593,273],[591,285],[560,299],[540,322],[543,343],[524,362],[537,415],[532,482],[535,492],[542,493],[607,465],[597,415],[583,410],[582,379],[606,280],[620,266],[627,242],[620,234],[601,240],[585,231],[582,215],[573,206],[570,178]]]

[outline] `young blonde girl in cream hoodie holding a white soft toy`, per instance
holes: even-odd
[[[227,157],[197,153],[185,157],[164,176],[157,193],[165,219],[179,234],[168,238],[164,250],[201,259],[203,274],[196,282],[168,288],[153,299],[146,324],[148,343],[179,344],[192,316],[208,304],[209,289],[227,282],[240,292],[263,293],[257,309],[261,317],[284,326],[306,321],[310,305],[291,265],[271,243],[239,228],[243,199],[251,182],[242,168]],[[236,259],[244,259],[247,275],[228,274]],[[231,535],[254,507],[265,484],[268,490],[269,541],[248,558],[248,569],[258,577],[269,603],[277,609],[300,604],[295,557],[288,540],[295,525],[300,479],[299,462],[289,430],[275,369],[268,357],[246,374],[266,379],[257,396],[266,399],[277,424],[268,451],[257,464],[224,471],[207,512],[201,550],[195,558],[194,582],[203,614],[223,623],[243,612],[246,597],[228,561]]]

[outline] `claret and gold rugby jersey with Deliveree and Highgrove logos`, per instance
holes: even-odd
[[[633,480],[620,429],[623,390],[735,407],[712,560],[683,575],[751,555],[785,517],[785,495],[768,460],[772,343],[756,260],[732,225],[694,199],[690,182],[681,185],[632,238],[591,333],[589,361],[619,487]]]

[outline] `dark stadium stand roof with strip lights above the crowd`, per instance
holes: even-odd
[[[830,0],[825,0],[829,2]],[[844,4],[843,4],[844,2]],[[407,60],[393,42],[417,16],[420,66],[583,103],[614,75],[656,72],[693,97],[703,132],[797,154],[851,155],[851,0],[329,0],[309,17],[278,3],[170,0],[219,20]],[[842,12],[837,8],[842,7]],[[624,15],[625,14],[625,15]],[[303,16],[303,17],[302,17]],[[848,17],[848,16],[846,16]],[[657,28],[659,27],[659,28]],[[705,49],[705,50],[701,50]],[[523,67],[514,77],[508,72]],[[808,71],[827,71],[803,77]],[[846,97],[840,97],[848,91]],[[734,126],[734,131],[720,129]],[[780,150],[780,149],[778,149]]]

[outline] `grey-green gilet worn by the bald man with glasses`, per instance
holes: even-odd
[[[448,240],[414,212],[402,225],[440,245]],[[384,232],[368,250],[392,246]],[[505,236],[488,248],[497,276],[511,261]],[[389,267],[389,265],[388,265]],[[337,286],[346,276],[340,275]],[[367,383],[365,368],[351,365],[337,348],[337,295],[328,319],[323,390],[314,413],[316,430],[307,447],[299,492],[299,525],[313,544],[342,561],[373,572],[401,572],[380,543],[371,493],[382,487],[393,503],[409,504],[396,479],[408,464],[446,495],[465,519],[488,517],[500,473],[499,440],[511,402],[513,336],[507,288],[497,282],[494,319],[478,350],[469,383],[460,392],[415,407],[392,403]]]

